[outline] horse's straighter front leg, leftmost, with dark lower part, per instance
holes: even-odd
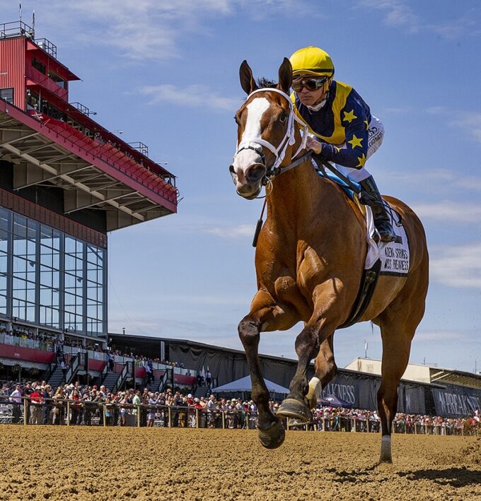
[[[272,298],[264,291],[259,291],[253,300],[250,313],[238,326],[240,341],[244,346],[252,381],[252,399],[257,406],[257,428],[259,440],[267,449],[275,449],[284,442],[284,428],[269,408],[269,390],[260,368],[259,341],[261,331],[289,329],[299,322],[294,310],[272,304]]]

